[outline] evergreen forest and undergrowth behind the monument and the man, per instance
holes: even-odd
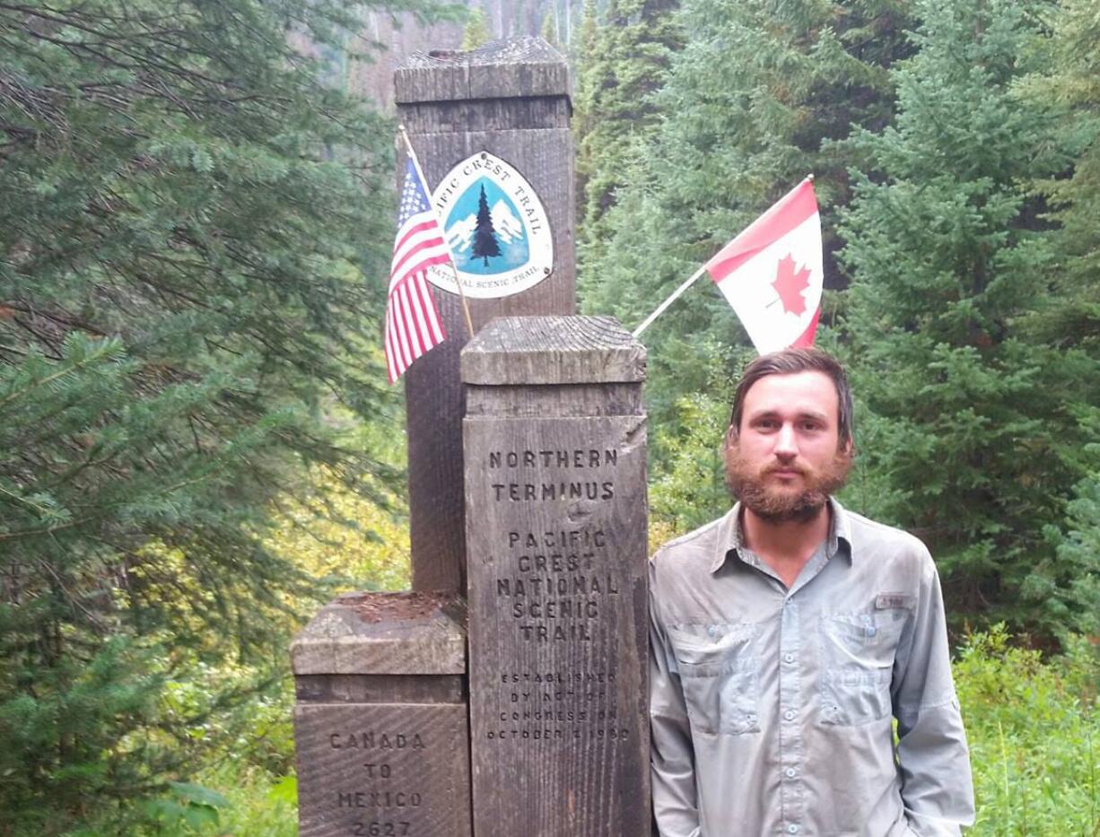
[[[0,835],[296,833],[289,637],[408,579],[395,123],[349,84],[392,19],[569,58],[584,312],[816,175],[842,499],[936,557],[975,833],[1100,834],[1100,8],[472,9],[0,0]],[[727,506],[754,353],[703,284],[646,342],[659,542]]]

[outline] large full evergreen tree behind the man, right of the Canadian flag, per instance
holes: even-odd
[[[1032,185],[1070,162],[1056,114],[1014,91],[1036,68],[1044,8],[917,5],[897,125],[850,144],[865,173],[842,232],[870,414],[854,502],[928,543],[955,613],[1048,632],[1064,576],[1043,531],[1081,476],[1075,405],[1100,381],[1023,328],[1054,299],[1056,239]]]

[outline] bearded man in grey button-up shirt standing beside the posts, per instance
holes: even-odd
[[[932,837],[974,821],[935,565],[832,497],[851,456],[835,360],[749,364],[725,445],[738,502],[650,561],[661,837]]]

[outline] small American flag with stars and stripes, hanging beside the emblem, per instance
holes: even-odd
[[[451,253],[413,161],[405,166],[386,304],[386,366],[391,384],[413,361],[447,339],[427,274],[431,265],[449,263]]]

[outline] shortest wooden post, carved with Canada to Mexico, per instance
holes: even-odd
[[[340,596],[290,647],[302,837],[469,837],[460,598]]]

